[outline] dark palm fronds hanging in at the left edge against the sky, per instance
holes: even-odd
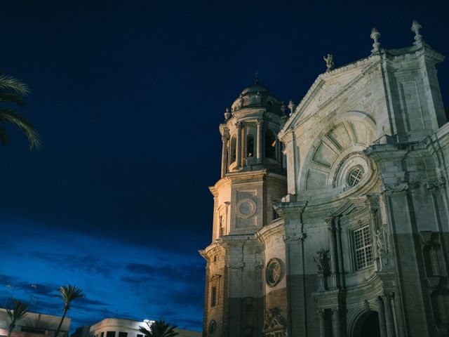
[[[42,145],[39,133],[13,108],[15,106],[24,107],[24,98],[28,93],[27,84],[14,77],[0,75],[0,122],[13,124],[20,128],[28,138],[29,150],[33,150]],[[8,143],[8,133],[3,126],[0,126],[0,143]]]

